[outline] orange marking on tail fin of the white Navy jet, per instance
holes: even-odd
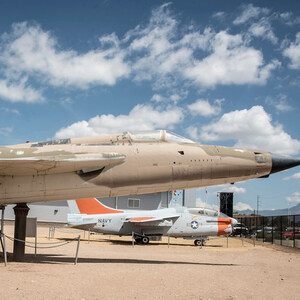
[[[117,210],[104,206],[95,198],[75,200],[81,214],[97,215],[97,214],[114,214],[123,213],[122,210]]]

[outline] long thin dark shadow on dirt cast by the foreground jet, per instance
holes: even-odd
[[[8,255],[8,263],[12,262],[12,254]],[[74,264],[75,258],[62,256],[60,254],[26,254],[23,263],[38,264]],[[219,266],[235,267],[237,264],[206,263],[206,262],[189,262],[189,261],[168,261],[168,260],[148,260],[148,259],[131,259],[131,258],[85,258],[78,257],[77,264],[82,263],[99,263],[99,264],[143,264],[143,265],[196,265],[196,266]]]

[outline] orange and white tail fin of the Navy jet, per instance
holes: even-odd
[[[110,208],[99,202],[96,198],[69,200],[68,205],[72,213],[86,215],[114,214],[124,212],[122,210]]]

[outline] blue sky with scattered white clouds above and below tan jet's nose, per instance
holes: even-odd
[[[300,156],[299,1],[0,1],[1,145],[169,129]],[[300,202],[300,170],[199,189]]]

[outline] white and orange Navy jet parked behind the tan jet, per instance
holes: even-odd
[[[68,225],[103,234],[133,235],[137,243],[148,244],[151,237],[183,237],[202,245],[207,236],[229,235],[237,221],[206,208],[163,208],[118,210],[95,198],[68,200]]]

